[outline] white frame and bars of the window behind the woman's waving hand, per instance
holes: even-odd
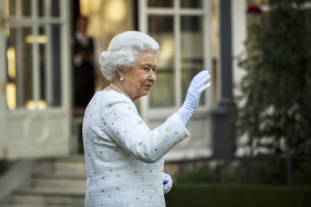
[[[161,119],[176,112],[183,104],[182,91],[181,91],[181,16],[201,16],[203,18],[203,68],[212,73],[211,67],[211,43],[210,43],[210,0],[202,0],[202,8],[181,8],[180,0],[173,0],[173,7],[148,7],[148,0],[139,0],[139,31],[148,34],[149,15],[164,15],[173,16],[174,18],[174,76],[175,76],[175,106],[174,107],[161,107],[151,108],[148,97],[142,97],[140,100],[141,116],[144,120]],[[211,74],[212,76],[212,74]],[[169,90],[169,89],[168,89]],[[206,90],[205,104],[199,106],[195,114],[206,114],[212,107],[212,91]]]

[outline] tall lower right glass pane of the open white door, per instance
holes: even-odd
[[[38,109],[61,104],[60,94],[60,26],[39,27],[39,78],[40,94]]]

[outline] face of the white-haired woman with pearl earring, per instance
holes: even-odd
[[[133,67],[124,70],[124,79],[121,84],[133,100],[148,95],[152,85],[156,82],[156,67],[155,54],[146,52]]]

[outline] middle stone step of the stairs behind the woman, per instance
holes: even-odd
[[[39,188],[60,188],[85,190],[86,175],[77,173],[34,173],[31,186]]]

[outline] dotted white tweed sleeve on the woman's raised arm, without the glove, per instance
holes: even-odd
[[[176,113],[151,131],[127,97],[122,94],[114,97],[104,102],[100,128],[129,155],[146,163],[155,163],[189,136]]]

